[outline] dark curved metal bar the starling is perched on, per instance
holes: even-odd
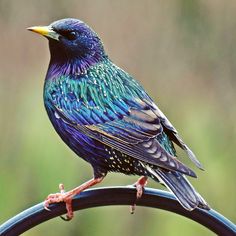
[[[131,186],[95,188],[75,196],[73,209],[77,211],[98,206],[132,205],[135,201],[136,189]],[[166,191],[145,188],[142,198],[136,201],[136,205],[171,211],[200,223],[218,235],[236,236],[236,225],[218,212],[199,208],[187,211],[173,194]],[[19,235],[42,222],[66,213],[64,203],[52,204],[49,208],[51,211],[45,210],[43,203],[39,203],[21,212],[0,226],[0,235]]]

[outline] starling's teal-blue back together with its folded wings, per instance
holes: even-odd
[[[158,141],[165,132],[199,166],[175,128],[138,82],[114,64],[98,65],[79,77],[48,80],[45,89],[55,117],[78,131],[138,160],[195,176]]]

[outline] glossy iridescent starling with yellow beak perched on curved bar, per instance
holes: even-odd
[[[107,173],[139,176],[140,198],[147,179],[166,186],[188,211],[210,207],[187,180],[195,172],[177,158],[174,145],[203,169],[177,130],[142,85],[107,55],[102,40],[74,18],[28,30],[48,39],[50,62],[44,82],[44,105],[61,139],[93,169],[93,178],[71,191],[49,194],[49,205],[65,202],[73,218],[72,199],[100,183]]]

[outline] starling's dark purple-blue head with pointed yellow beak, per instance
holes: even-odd
[[[49,26],[35,26],[28,30],[49,40],[52,63],[80,61],[89,64],[106,56],[98,35],[80,20],[62,19]]]

